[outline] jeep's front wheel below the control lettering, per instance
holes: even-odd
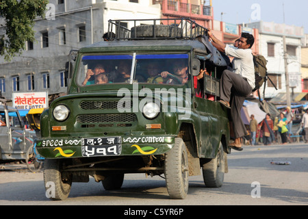
[[[170,198],[185,198],[188,193],[188,153],[181,138],[175,138],[175,146],[166,153],[165,177]]]

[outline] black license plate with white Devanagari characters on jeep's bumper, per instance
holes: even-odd
[[[83,138],[82,156],[97,157],[120,155],[122,144],[120,137]]]

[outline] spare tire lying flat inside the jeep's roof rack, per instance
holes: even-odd
[[[181,38],[181,28],[171,25],[140,25],[131,28],[131,38]]]

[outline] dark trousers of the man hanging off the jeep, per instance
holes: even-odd
[[[220,79],[220,99],[230,103],[235,138],[247,135],[246,127],[241,117],[241,109],[246,97],[251,94],[252,90],[246,78],[241,75],[235,74],[230,70],[224,70],[222,73]]]

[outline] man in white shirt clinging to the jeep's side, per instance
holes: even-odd
[[[208,34],[218,51],[234,57],[232,61],[233,70],[224,70],[222,73],[219,102],[227,107],[231,107],[231,120],[233,121],[235,140],[229,146],[237,151],[242,151],[240,139],[246,136],[247,131],[241,118],[241,109],[244,100],[255,88],[255,66],[251,50],[255,38],[251,34],[242,33],[237,48],[218,40],[211,33],[211,30],[208,31]]]

